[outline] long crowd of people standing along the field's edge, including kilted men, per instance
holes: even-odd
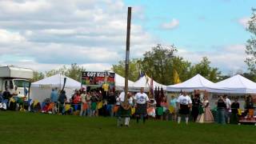
[[[125,98],[125,95],[127,97]],[[189,95],[181,92],[178,97],[171,95],[166,97],[163,90],[155,90],[154,94],[146,94],[144,88],[138,93],[114,92],[102,89],[75,90],[70,99],[67,98],[65,90],[54,88],[45,102],[26,101],[16,98],[10,94],[8,89],[0,93],[0,110],[24,110],[49,114],[70,114],[86,117],[110,116],[117,117],[118,126],[129,126],[130,118],[136,122],[146,119],[172,120],[178,123],[185,118],[188,122],[198,123],[238,123],[241,114],[238,98],[230,102],[227,95],[219,96],[215,102],[216,113],[211,110],[208,94],[200,94],[194,91]],[[246,98],[244,117],[254,117],[254,103],[252,97]]]

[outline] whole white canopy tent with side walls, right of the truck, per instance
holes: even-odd
[[[81,83],[62,74],[56,74],[38,82],[33,82],[30,88],[30,98],[37,99],[39,102],[43,102],[46,98],[50,98],[50,93],[53,88],[58,88],[58,90],[62,89],[64,78],[66,78],[66,97],[68,99],[71,98],[74,90],[81,88]]]

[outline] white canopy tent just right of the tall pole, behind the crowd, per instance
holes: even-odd
[[[134,85],[132,86],[132,90],[139,90],[141,87],[144,87],[145,90],[150,90],[150,82],[151,82],[151,78],[144,75],[142,78],[139,78],[138,81],[134,82]],[[160,87],[163,90],[166,90],[165,85],[162,85],[153,80],[153,88],[155,87]]]

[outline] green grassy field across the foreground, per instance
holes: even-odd
[[[148,121],[0,111],[0,143],[256,143],[256,126]]]

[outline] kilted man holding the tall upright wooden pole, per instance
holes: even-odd
[[[131,106],[133,103],[133,99],[131,94],[127,94],[127,98],[125,99],[125,92],[122,92],[118,97],[118,102],[120,102],[117,117],[118,117],[118,126],[129,126],[130,123],[130,114],[131,114]]]

